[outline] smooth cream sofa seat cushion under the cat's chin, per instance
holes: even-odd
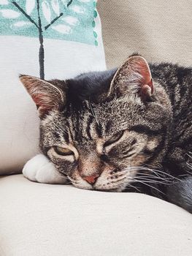
[[[192,215],[155,197],[0,178],[1,256],[190,256]]]

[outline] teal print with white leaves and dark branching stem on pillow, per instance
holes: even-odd
[[[38,37],[39,76],[44,79],[45,38],[98,45],[95,8],[93,0],[0,0],[0,36]]]

